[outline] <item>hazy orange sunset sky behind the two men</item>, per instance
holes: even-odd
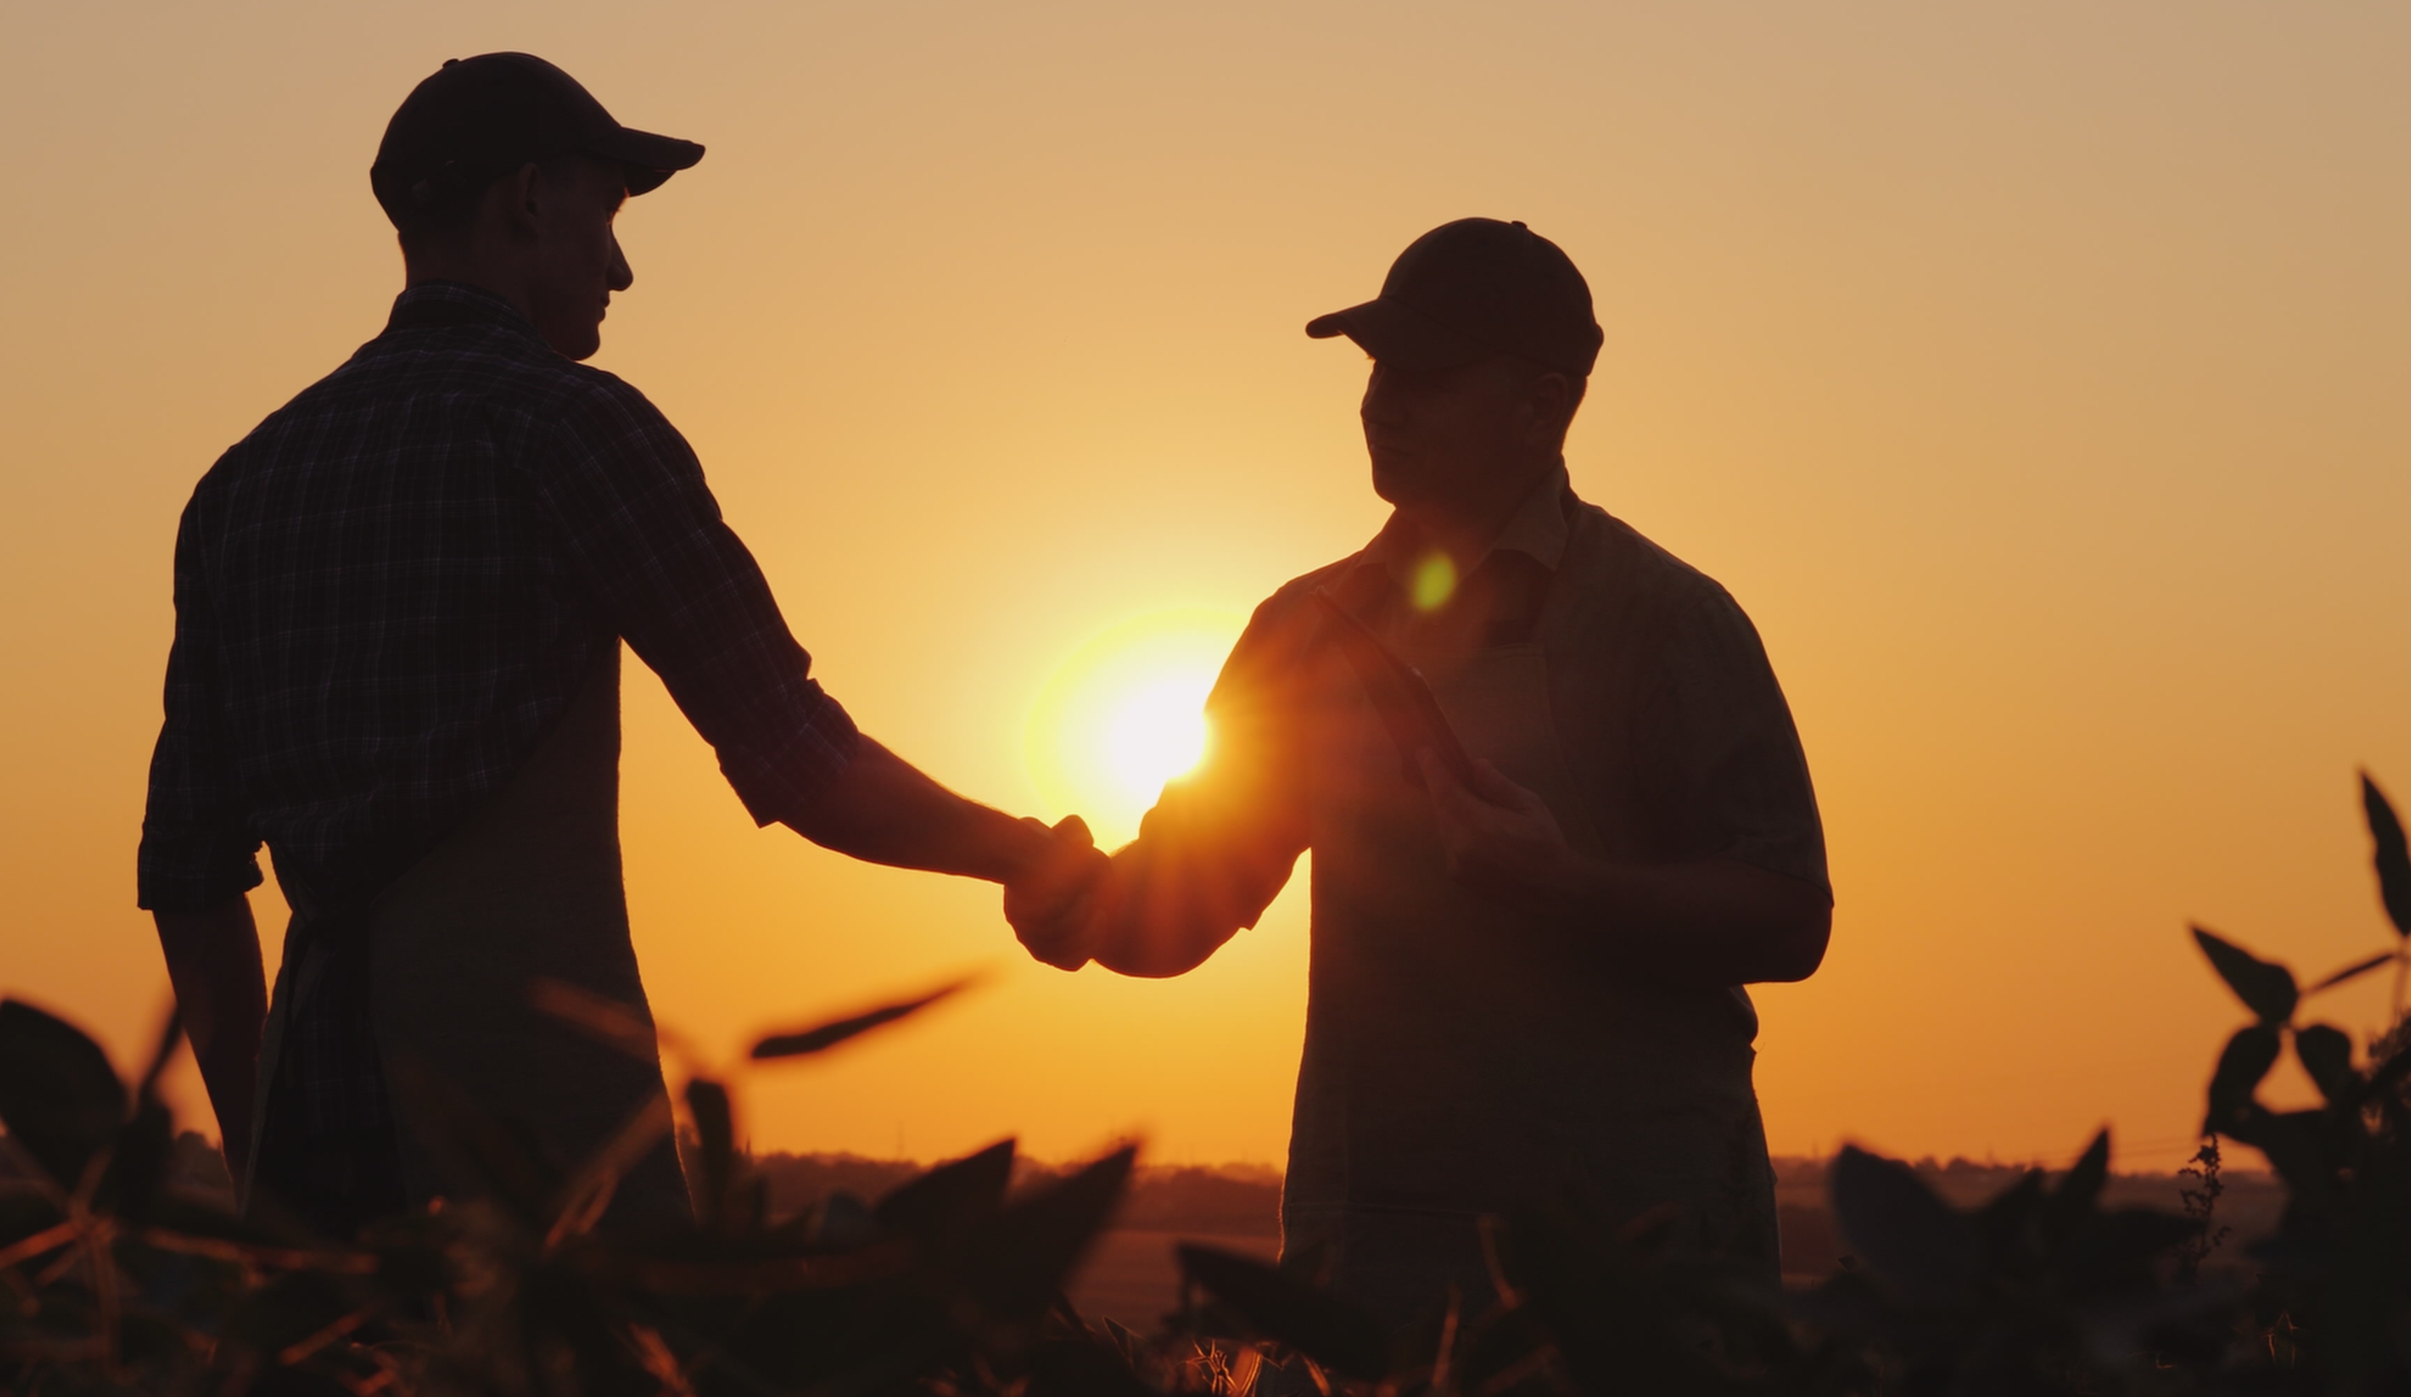
[[[2411,12],[1943,10],[0,10],[0,987],[121,1052],[164,1004],[176,512],[381,323],[393,104],[530,48],[711,147],[622,217],[596,362],[863,726],[1017,811],[1068,799],[1032,714],[1095,637],[1379,526],[1362,360],[1304,318],[1449,217],[1558,239],[1608,335],[1574,485],[1743,601],[1823,796],[1835,948],[1760,994],[1777,1151],[2114,1122],[2172,1163],[2237,1018],[2184,919],[2315,972],[2387,941],[2351,772],[2411,801]],[[759,1146],[1280,1158],[1302,888],[1181,982],[1063,977],[991,888],[752,830],[629,676],[665,1021],[728,1050],[993,972],[757,1076]]]

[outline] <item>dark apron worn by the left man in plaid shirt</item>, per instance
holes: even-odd
[[[475,1190],[475,1175],[448,1153],[458,1134],[448,1112],[415,1081],[506,1122],[562,1177],[663,1093],[658,1059],[639,1062],[528,1001],[530,984],[550,977],[651,1023],[620,881],[617,644],[526,765],[347,931],[325,934],[294,917],[287,946],[299,953],[277,970],[258,1100],[272,1100],[292,1004],[311,992],[342,994],[345,1011],[374,1035],[374,1059],[391,1083],[405,1204]],[[605,1221],[692,1221],[668,1139],[622,1177]]]

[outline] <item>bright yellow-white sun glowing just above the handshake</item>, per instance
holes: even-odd
[[[1073,651],[1029,714],[1029,775],[1051,813],[1080,813],[1099,844],[1136,835],[1165,782],[1206,758],[1206,695],[1239,627],[1220,610],[1169,610]]]

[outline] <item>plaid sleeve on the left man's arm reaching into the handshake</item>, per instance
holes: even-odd
[[[798,816],[861,736],[813,680],[687,439],[603,379],[555,422],[535,470],[579,581],[718,753],[745,811],[759,825]]]

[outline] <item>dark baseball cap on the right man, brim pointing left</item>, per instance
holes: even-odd
[[[1586,379],[1606,338],[1574,258],[1521,222],[1461,217],[1410,241],[1362,306],[1307,321],[1401,369],[1451,369],[1492,355]]]

